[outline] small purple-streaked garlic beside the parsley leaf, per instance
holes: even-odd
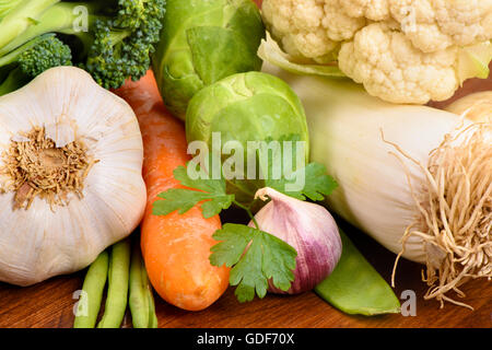
[[[337,223],[324,207],[285,196],[269,187],[258,190],[255,197],[271,199],[255,215],[259,229],[297,250],[294,281],[286,293],[311,291],[331,273],[340,259],[342,245]],[[249,226],[255,225],[250,222]],[[272,283],[269,283],[269,291],[285,293]]]

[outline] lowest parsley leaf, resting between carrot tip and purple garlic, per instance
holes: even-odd
[[[232,223],[224,224],[213,234],[213,238],[221,242],[211,248],[210,262],[233,266],[230,283],[237,285],[235,294],[239,302],[251,301],[255,292],[260,299],[263,298],[269,280],[282,291],[291,287],[297,253],[282,240]]]

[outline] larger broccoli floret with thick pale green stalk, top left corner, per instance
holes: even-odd
[[[56,33],[70,47],[74,66],[102,86],[116,89],[149,70],[164,13],[165,0],[21,0],[0,16],[0,60],[44,34]]]

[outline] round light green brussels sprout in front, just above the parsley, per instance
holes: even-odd
[[[297,141],[304,141],[304,154],[300,158],[304,164],[308,161],[309,136],[301,101],[284,81],[267,73],[233,74],[202,89],[191,98],[186,113],[187,141],[203,141],[209,150],[214,150],[214,135],[221,148],[227,143],[239,144],[245,163],[248,141],[266,141],[268,144],[295,136]],[[222,161],[234,153],[219,151]],[[255,162],[259,167],[257,158]],[[241,170],[243,176],[229,179],[227,186],[239,202],[251,206],[256,190],[265,187],[265,179],[248,179],[248,165]]]

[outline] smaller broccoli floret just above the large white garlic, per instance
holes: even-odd
[[[17,90],[49,68],[71,66],[71,58],[70,48],[55,34],[45,34],[27,42],[0,58],[0,71],[4,75],[0,96]]]

